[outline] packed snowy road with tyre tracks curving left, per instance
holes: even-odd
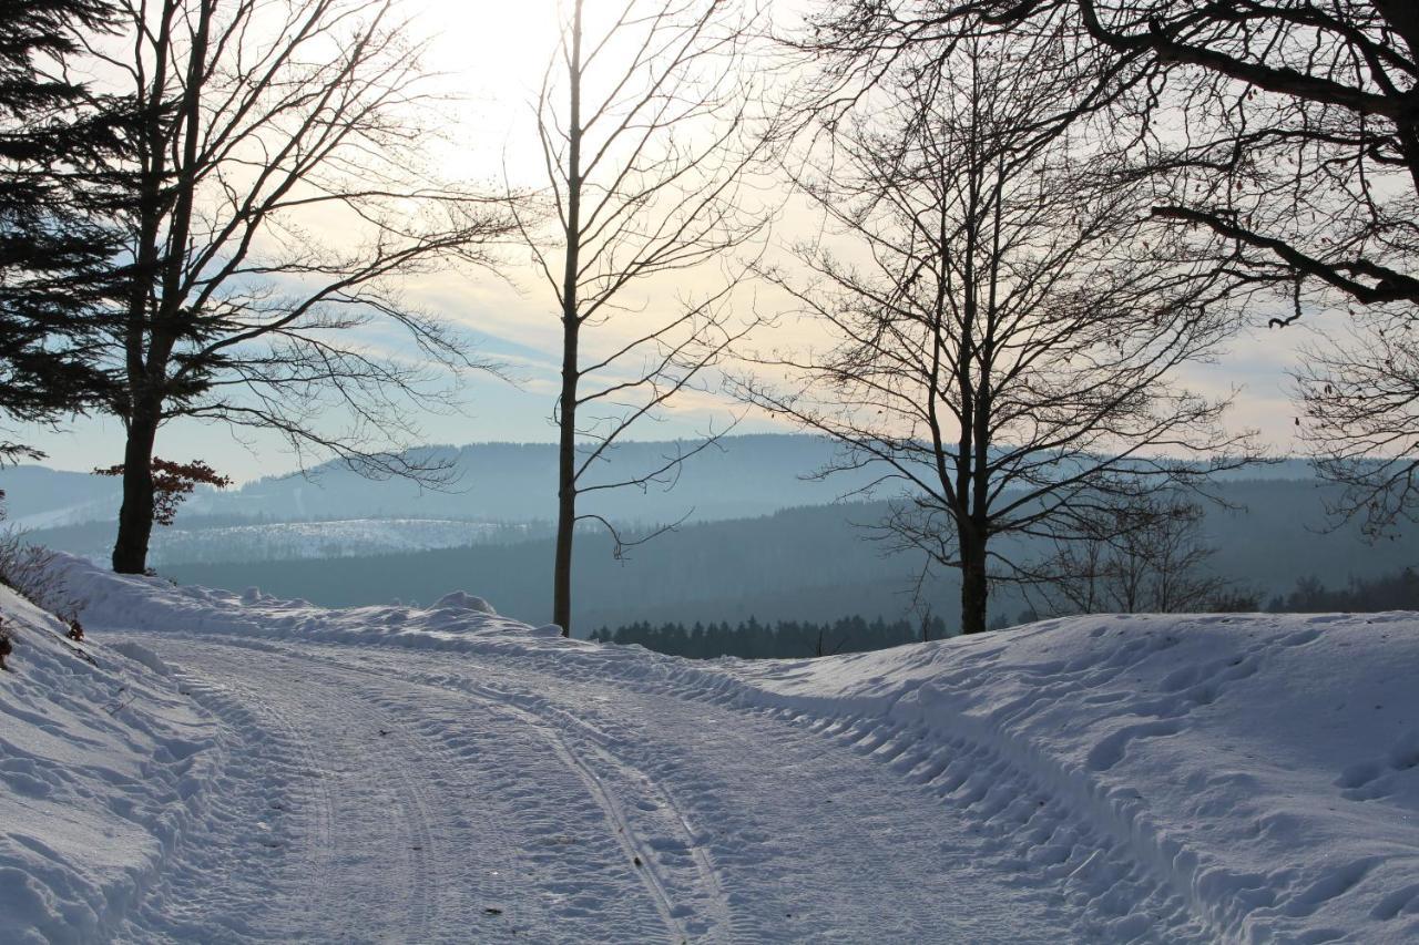
[[[972,783],[941,778],[944,765],[924,778],[826,719],[727,708],[675,685],[549,678],[482,656],[131,639],[223,721],[227,753],[214,836],[177,851],[135,935],[1057,942],[1064,929],[1088,932],[1060,877],[1103,851],[999,763]],[[1040,868],[1010,856],[1022,831],[1084,843],[1059,847],[1073,851],[1069,870]],[[1118,894],[1128,864],[1115,871]],[[1132,890],[1120,905],[1135,910],[1148,894]],[[1176,941],[1178,904],[1156,905],[1154,928]]]

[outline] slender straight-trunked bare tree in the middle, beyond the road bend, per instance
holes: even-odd
[[[563,634],[578,522],[610,529],[617,553],[630,543],[578,499],[670,484],[715,440],[597,478],[619,440],[700,387],[746,331],[729,309],[734,271],[700,292],[673,277],[731,268],[766,223],[745,184],[766,140],[748,68],[756,13],[725,0],[623,0],[590,4],[592,17],[587,6],[569,4],[538,98],[555,231],[522,221],[562,322],[552,619]]]

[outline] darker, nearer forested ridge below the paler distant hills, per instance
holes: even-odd
[[[1239,480],[1222,487],[1240,509],[1212,508],[1205,521],[1216,546],[1210,569],[1264,603],[1298,578],[1341,586],[1419,563],[1419,535],[1366,543],[1352,526],[1325,531],[1314,484],[1296,480]],[[833,620],[901,617],[920,559],[884,556],[866,541],[863,525],[880,521],[883,504],[793,508],[768,516],[685,525],[616,560],[599,532],[578,539],[573,604],[578,629],[633,620],[694,621]],[[529,623],[551,619],[552,545],[545,536],[410,555],[339,560],[170,565],[160,572],[182,583],[231,590],[260,586],[278,596],[321,604],[429,603],[465,589]],[[932,612],[956,613],[954,575],[927,587]],[[1026,602],[1009,586],[993,592],[996,619],[1013,621]]]

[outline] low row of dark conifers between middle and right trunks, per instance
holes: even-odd
[[[924,623],[908,620],[884,621],[881,617],[867,621],[863,617],[843,617],[832,623],[810,623],[779,620],[759,623],[749,617],[738,624],[683,623],[651,624],[631,623],[614,631],[602,627],[590,639],[600,643],[639,643],[656,653],[683,656],[694,660],[732,656],[745,660],[786,660],[795,657],[834,656],[837,653],[867,653],[885,650],[922,639],[941,640],[946,636],[946,624],[941,617]]]

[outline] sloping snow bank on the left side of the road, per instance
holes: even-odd
[[[0,620],[0,942],[108,939],[203,816],[214,728],[152,653],[74,646],[3,586]]]

